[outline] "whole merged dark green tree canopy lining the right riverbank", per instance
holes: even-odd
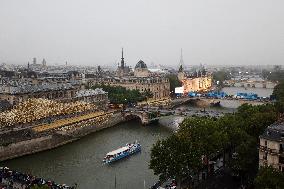
[[[154,145],[150,168],[163,179],[189,178],[201,168],[209,171],[210,159],[223,152],[225,160],[224,154],[229,152],[228,166],[248,182],[258,169],[258,137],[276,120],[273,104],[244,104],[236,113],[219,119],[186,118],[174,136]],[[165,158],[167,155],[178,161]],[[200,162],[202,158],[205,161]]]

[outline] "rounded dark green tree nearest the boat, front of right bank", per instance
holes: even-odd
[[[180,183],[182,178],[196,173],[201,166],[199,149],[176,134],[159,140],[151,150],[149,167],[159,175],[161,181],[175,178]]]

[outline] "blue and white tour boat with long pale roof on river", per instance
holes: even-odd
[[[104,157],[103,162],[109,164],[140,151],[141,151],[141,145],[136,141],[134,143],[126,144],[125,146],[117,150],[107,153],[106,157]]]

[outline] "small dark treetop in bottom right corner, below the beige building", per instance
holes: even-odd
[[[261,167],[254,184],[256,189],[282,189],[284,174],[273,167]]]

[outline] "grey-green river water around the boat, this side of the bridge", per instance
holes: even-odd
[[[158,140],[173,131],[161,125],[142,126],[138,121],[121,123],[82,139],[40,153],[1,162],[0,166],[30,173],[58,183],[78,184],[79,189],[142,189],[157,181],[148,168],[150,149]],[[141,153],[103,165],[105,154],[129,142],[138,140]],[[116,178],[116,179],[115,179]]]

